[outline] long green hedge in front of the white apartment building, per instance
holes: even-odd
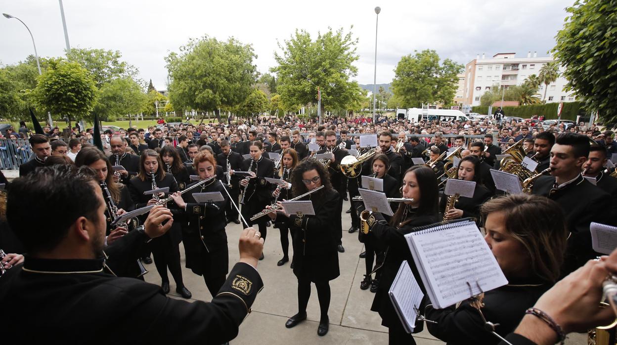
[[[557,107],[559,103],[547,103],[547,104],[532,104],[531,106],[518,106],[518,107],[503,107],[503,114],[505,116],[515,116],[523,118],[531,118],[533,115],[544,115],[549,120],[551,118],[557,118]],[[584,102],[564,102],[563,109],[561,110],[562,120],[576,121],[576,117],[586,117]],[[477,106],[471,108],[473,112],[478,114],[487,114],[489,107]],[[497,110],[497,107],[493,107],[493,112]]]

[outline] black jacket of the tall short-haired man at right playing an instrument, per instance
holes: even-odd
[[[591,246],[591,222],[607,224],[613,201],[605,191],[579,177],[561,189],[553,188],[555,177],[539,177],[532,187],[532,193],[547,196],[561,206],[566,217],[566,227],[571,232],[566,247],[562,276],[594,259],[597,254]]]

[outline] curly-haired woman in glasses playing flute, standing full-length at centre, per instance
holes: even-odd
[[[336,139],[334,139],[336,145]],[[317,287],[317,296],[321,310],[317,335],[328,333],[330,305],[329,281],[339,276],[339,256],[336,246],[341,231],[334,224],[341,218],[339,199],[341,195],[335,191],[328,181],[328,173],[317,160],[307,158],[302,160],[292,172],[292,190],[294,196],[299,196],[313,189],[325,188],[304,197],[313,204],[315,215],[288,215],[284,210],[268,214],[273,220],[281,220],[293,227],[294,275],[298,280],[298,313],[285,323],[292,328],[307,318],[311,283]]]

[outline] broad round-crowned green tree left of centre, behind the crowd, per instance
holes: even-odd
[[[238,106],[252,93],[257,80],[255,57],[251,44],[234,38],[189,40],[179,54],[165,57],[172,80],[170,101],[186,109],[214,110],[220,121],[220,108]]]

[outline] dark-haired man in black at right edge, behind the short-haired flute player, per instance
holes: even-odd
[[[607,149],[603,146],[590,146],[587,162],[583,165],[583,172],[585,173],[583,176],[595,178],[595,185],[607,192],[613,199],[613,208],[605,210],[605,212],[610,212],[611,220],[614,223],[614,217],[617,215],[617,178],[612,177],[605,170],[604,165],[607,164],[607,161]],[[611,225],[614,225],[613,223]]]

